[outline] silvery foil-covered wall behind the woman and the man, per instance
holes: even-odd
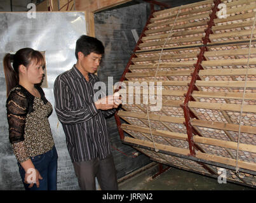
[[[76,63],[76,40],[82,34],[86,34],[84,12],[37,12],[36,18],[28,18],[25,12],[0,13],[0,190],[23,190],[17,159],[8,139],[4,55],[25,47],[45,51],[48,88],[44,88],[44,93],[54,107],[55,78]],[[79,187],[67,152],[65,134],[55,110],[49,121],[59,157],[58,190],[77,190]]]

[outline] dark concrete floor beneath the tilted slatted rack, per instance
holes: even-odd
[[[217,178],[170,168],[157,178],[158,166],[119,183],[119,190],[255,190],[235,183],[218,183]]]

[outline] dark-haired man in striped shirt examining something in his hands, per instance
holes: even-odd
[[[103,54],[101,41],[81,36],[76,42],[76,64],[54,83],[55,110],[81,190],[95,190],[95,176],[102,190],[118,190],[105,117],[121,101],[112,95],[93,100],[98,91],[93,87],[99,81],[94,73]]]

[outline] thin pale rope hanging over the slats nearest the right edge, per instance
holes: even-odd
[[[252,33],[251,33],[251,38],[250,38],[250,43],[249,43],[248,60],[247,60],[246,75],[245,75],[245,86],[243,88],[243,100],[242,100],[242,104],[241,104],[241,111],[240,111],[240,117],[239,117],[238,147],[236,148],[236,173],[238,173],[238,171],[239,171],[238,152],[239,152],[239,142],[240,142],[240,134],[241,134],[241,121],[242,121],[242,114],[243,114],[243,105],[244,105],[244,101],[245,101],[245,91],[246,91],[246,84],[247,84],[247,77],[248,77],[248,67],[249,67],[249,61],[250,61],[250,55],[251,55],[252,36],[253,36],[253,30],[254,30],[254,27],[255,27],[255,19],[256,19],[256,14],[254,16]]]

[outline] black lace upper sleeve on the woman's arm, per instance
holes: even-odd
[[[9,140],[11,144],[24,140],[25,119],[28,101],[19,89],[10,92],[6,100],[7,120],[9,124]]]

